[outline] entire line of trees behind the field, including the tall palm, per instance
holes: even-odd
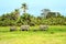
[[[23,13],[20,14],[20,9]],[[66,25],[66,16],[62,15],[59,12],[53,12],[50,9],[42,9],[40,16],[34,16],[26,13],[28,4],[22,3],[20,9],[15,9],[10,13],[0,15],[0,26],[11,26],[11,25]]]

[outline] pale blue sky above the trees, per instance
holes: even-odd
[[[28,12],[33,15],[40,15],[42,9],[50,9],[66,15],[66,0],[0,0],[0,15],[19,9],[24,2],[28,3]]]

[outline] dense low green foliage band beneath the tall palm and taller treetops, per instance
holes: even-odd
[[[52,15],[50,15],[52,16]],[[42,18],[42,16],[33,16],[29,13],[23,13],[20,16],[15,16],[13,13],[7,13],[0,16],[0,25],[40,25],[40,24],[48,24],[48,25],[66,25],[66,16],[55,16],[55,18]]]

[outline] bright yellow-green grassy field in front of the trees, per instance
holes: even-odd
[[[66,26],[51,25],[48,31],[14,31],[0,26],[0,44],[66,44]],[[31,26],[37,30],[38,26]],[[19,30],[19,28],[18,28]]]

